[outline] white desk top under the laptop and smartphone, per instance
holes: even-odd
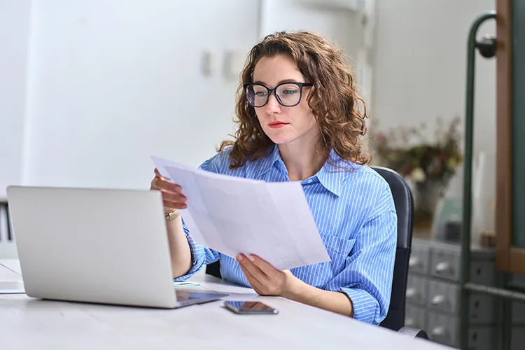
[[[21,280],[17,260],[0,260],[0,281]],[[0,295],[1,349],[450,349],[211,276],[199,282],[191,288],[228,288],[239,294],[226,299],[255,298],[279,314],[236,315],[221,301],[162,310]]]

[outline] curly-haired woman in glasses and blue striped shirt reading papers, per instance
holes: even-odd
[[[201,169],[265,181],[300,181],[331,261],[279,271],[257,256],[230,258],[193,241],[177,209],[183,188],[155,169],[176,281],[221,260],[224,279],[380,323],[388,311],[397,219],[390,188],[367,164],[362,101],[341,50],[310,32],[280,32],[248,55],[235,141]]]

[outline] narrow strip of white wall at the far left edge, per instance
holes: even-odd
[[[0,199],[20,182],[30,0],[0,1]]]

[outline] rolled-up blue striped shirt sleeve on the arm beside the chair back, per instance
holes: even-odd
[[[390,306],[397,214],[393,210],[368,220],[360,230],[346,267],[330,283],[346,293],[353,304],[353,318],[379,324]]]

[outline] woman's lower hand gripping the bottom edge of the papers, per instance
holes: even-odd
[[[296,277],[289,271],[279,271],[257,255],[237,255],[246,279],[259,295],[282,296],[290,291]]]

